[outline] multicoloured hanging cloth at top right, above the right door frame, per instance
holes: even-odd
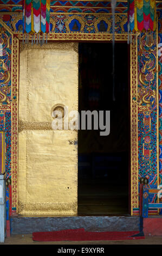
[[[154,31],[156,27],[155,0],[128,0],[128,32]]]

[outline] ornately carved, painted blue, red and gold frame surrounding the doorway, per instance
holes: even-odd
[[[58,32],[58,13],[50,15],[51,33],[48,41],[112,41],[112,14],[64,13],[63,31]],[[73,31],[76,20],[79,31]],[[100,32],[100,21],[107,24],[107,31]],[[1,13],[0,39],[3,47],[1,72],[5,79],[1,87],[0,111],[5,117],[6,172],[11,179],[11,216],[18,212],[18,88],[22,15]],[[141,40],[140,40],[141,39]],[[24,39],[25,40],[25,39]],[[31,35],[29,42],[31,43]],[[115,14],[115,40],[127,41],[127,14]],[[1,49],[0,49],[1,50]],[[151,62],[149,62],[151,59]],[[139,214],[139,178],[148,175],[150,187],[159,185],[159,101],[158,99],[158,29],[152,44],[146,35],[132,35],[130,45],[130,109],[131,109],[131,215]],[[154,182],[156,181],[156,182]],[[151,202],[156,198],[151,197]],[[157,214],[158,211],[150,211]]]

